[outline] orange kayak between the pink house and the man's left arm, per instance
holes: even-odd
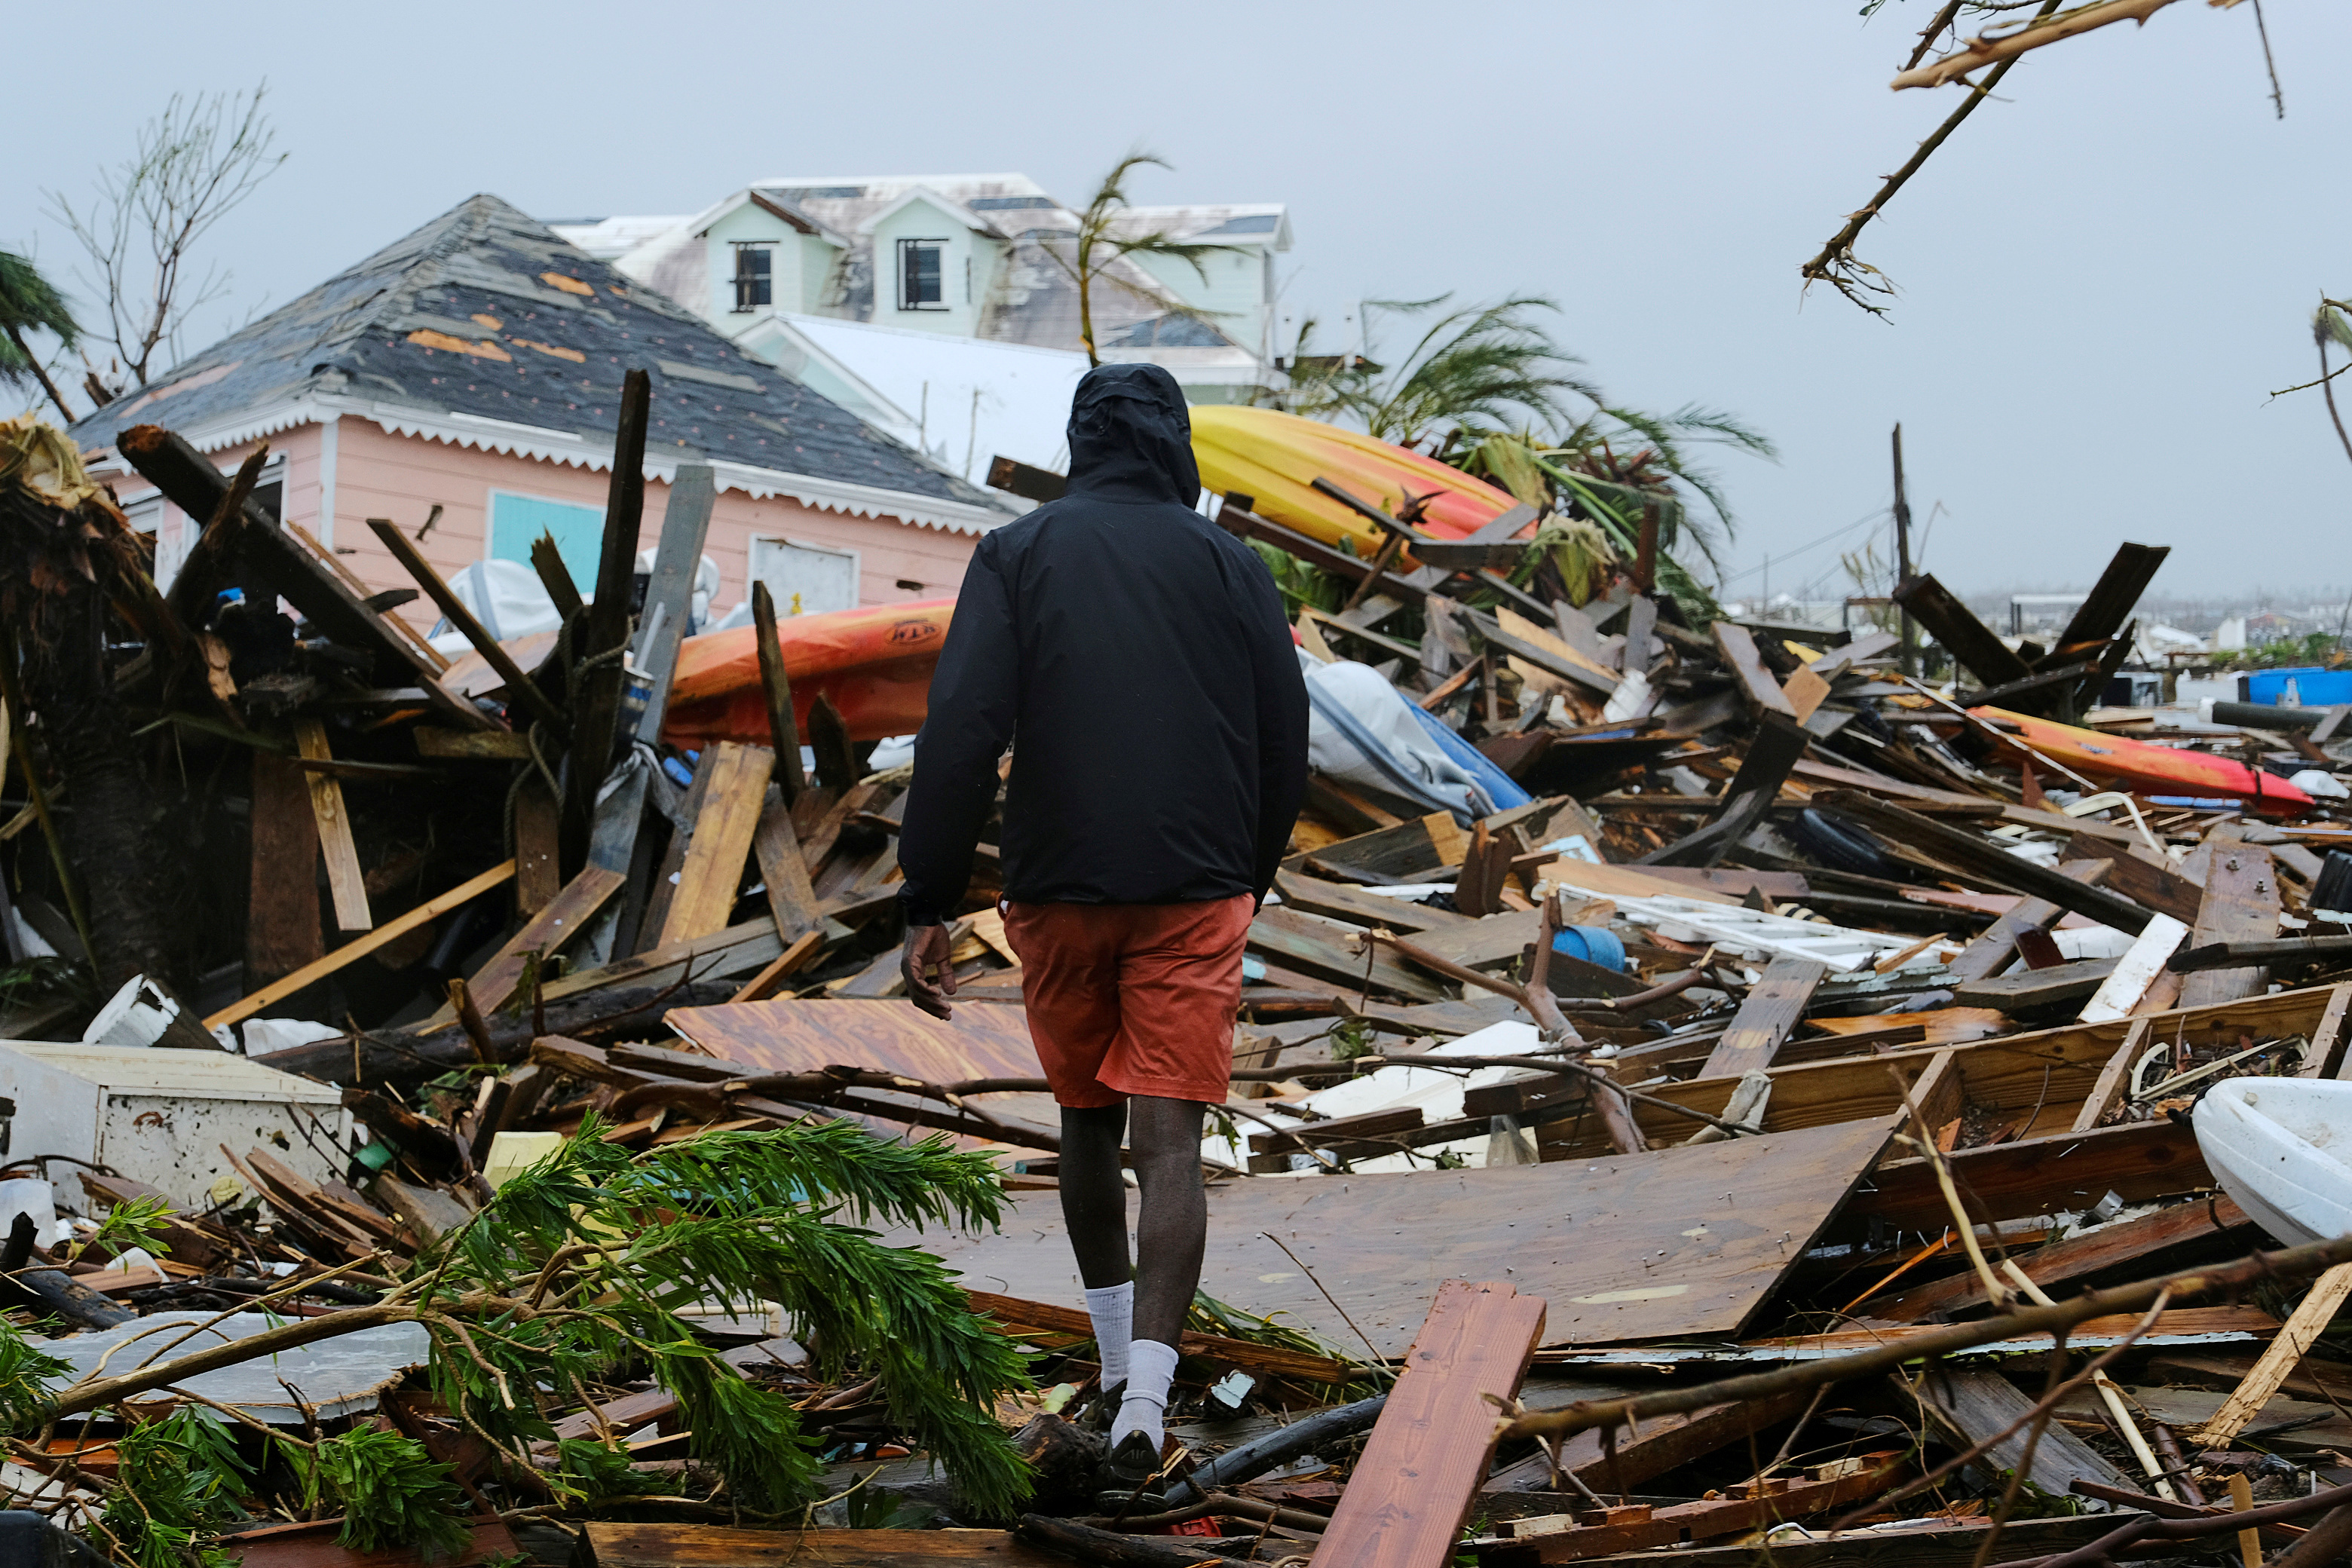
[[[953,614],[955,599],[915,599],[776,621],[776,646],[783,649],[783,672],[793,679],[800,733],[809,733],[809,705],[818,696],[840,708],[851,741],[922,729],[931,670]],[[677,644],[677,677],[670,682],[661,738],[684,750],[710,741],[767,745],[755,628],[739,625]]]

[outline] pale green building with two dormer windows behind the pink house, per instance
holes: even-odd
[[[1115,261],[1091,289],[1096,353],[1164,364],[1192,402],[1242,402],[1265,386],[1289,212],[1129,207],[1122,226],[1223,249],[1200,268]],[[795,315],[1082,348],[1063,242],[1077,214],[1023,174],[769,179],[691,216],[553,228],[762,357],[779,341],[774,317]]]

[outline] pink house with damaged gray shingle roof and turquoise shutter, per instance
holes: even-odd
[[[527,562],[532,541],[553,534],[586,590],[630,369],[654,383],[640,548],[661,534],[680,463],[708,461],[717,475],[703,545],[720,569],[713,614],[739,604],[753,576],[781,611],[953,595],[981,534],[1011,520],[988,491],[743,357],[492,195],[99,409],[73,435],[155,534],[165,576],[200,522],[111,451],[139,423],[179,430],[221,468],[268,442],[256,496],[372,590],[412,581],[367,531],[369,517],[421,531],[445,576],[485,559]],[[435,618],[426,602],[397,614],[419,630]]]

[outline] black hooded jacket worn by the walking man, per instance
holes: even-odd
[[[898,832],[910,924],[955,912],[1014,748],[1004,893],[1265,896],[1305,795],[1308,698],[1275,578],[1200,512],[1157,364],[1070,404],[1070,489],[971,552]]]

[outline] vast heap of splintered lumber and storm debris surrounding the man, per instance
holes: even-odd
[[[16,1509],[607,1568],[2352,1533],[2347,1194],[2241,1208],[2199,1140],[2352,1074],[2343,712],[2098,708],[2161,550],[2016,649],[1933,578],[1830,635],[1653,592],[1653,534],[1592,583],[1534,508],[1350,498],[1359,559],[1216,503],[1279,552],[1315,778],[1202,1145],[1178,1507],[1120,1519],[995,860],[955,1020],[877,1006],[906,773],[781,658],[764,733],[663,743],[701,536],[687,477],[633,614],[633,393],[614,569],[536,559],[560,635],[376,529],[454,668],[252,463],[125,437],[212,520],[169,592],[71,449],[0,477]]]

